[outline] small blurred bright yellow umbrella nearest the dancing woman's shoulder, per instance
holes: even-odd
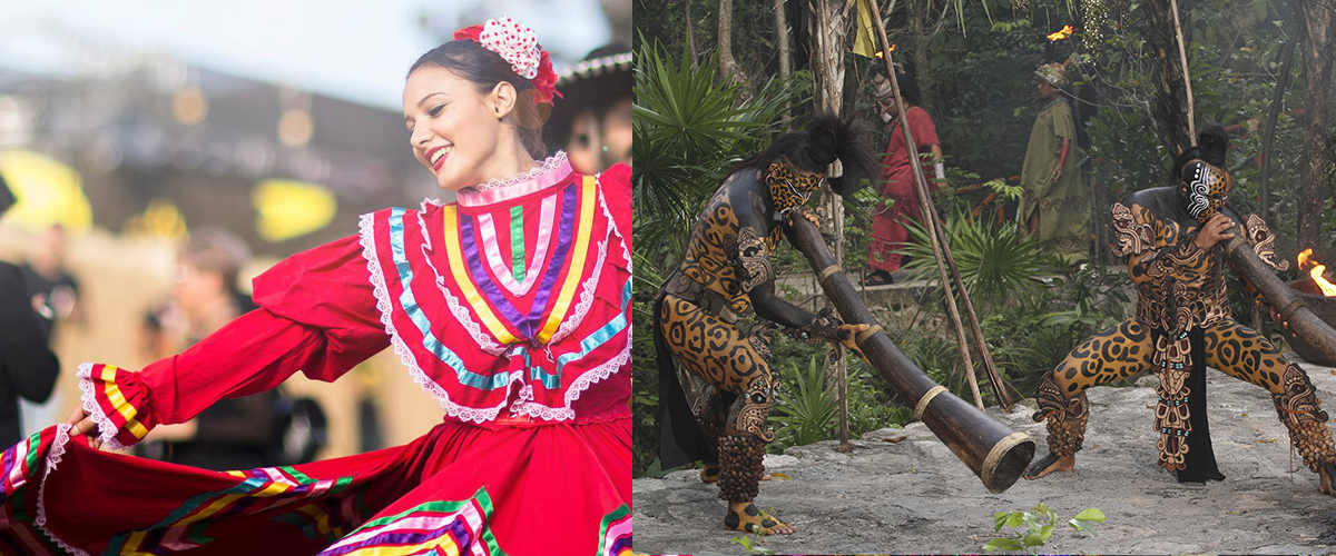
[[[319,231],[334,221],[338,199],[323,185],[295,180],[265,180],[251,191],[259,217],[255,231],[270,243]]]

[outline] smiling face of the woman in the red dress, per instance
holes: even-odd
[[[513,107],[509,83],[482,93],[473,81],[436,65],[414,69],[403,85],[413,155],[449,191],[509,175],[497,145],[502,133],[514,135],[513,124],[504,123]]]

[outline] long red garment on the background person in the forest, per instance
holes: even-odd
[[[938,144],[937,125],[933,119],[919,107],[907,111],[910,119],[910,132],[914,133],[914,143],[918,143],[918,152],[931,152],[930,147]],[[895,272],[900,268],[904,256],[900,255],[899,245],[908,241],[908,232],[904,229],[904,219],[918,221],[922,219],[918,192],[914,188],[912,168],[910,168],[910,153],[904,148],[904,131],[899,120],[891,120],[891,143],[886,147],[886,157],[882,159],[882,180],[878,189],[882,192],[882,203],[876,204],[872,213],[872,239],[867,245],[867,267],[874,271]],[[931,176],[925,169],[925,176]],[[929,183],[933,191],[941,185]],[[887,207],[890,203],[890,207]]]

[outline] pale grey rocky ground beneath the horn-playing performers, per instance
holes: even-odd
[[[1291,355],[1293,357],[1293,355]],[[1336,371],[1305,364],[1324,400]],[[1134,388],[1089,391],[1090,428],[1071,472],[1019,480],[994,495],[922,423],[855,440],[851,453],[824,441],[768,456],[791,480],[762,483],[756,503],[799,531],[763,547],[780,555],[979,553],[993,513],[1045,503],[1062,520],[1100,508],[1108,521],[1089,537],[1058,529],[1042,553],[1332,553],[1336,499],[1291,456],[1288,433],[1261,388],[1209,371],[1209,416],[1224,481],[1180,484],[1156,465],[1153,377]],[[1336,415],[1333,403],[1324,404]],[[1047,453],[1034,401],[989,413],[1031,435]],[[904,436],[898,443],[886,441]],[[637,553],[747,553],[725,531],[725,503],[695,471],[635,481]]]

